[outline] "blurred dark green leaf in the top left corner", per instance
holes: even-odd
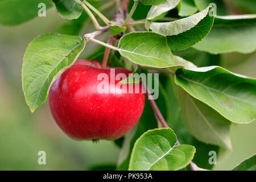
[[[0,24],[16,25],[38,16],[38,5],[44,3],[46,9],[51,7],[47,0],[1,0],[0,1]]]

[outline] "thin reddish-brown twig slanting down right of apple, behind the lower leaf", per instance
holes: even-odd
[[[153,99],[153,97],[150,93],[150,90],[148,90],[148,87],[144,83],[144,81],[142,82],[142,84],[143,84],[143,87],[146,88],[147,98],[148,98],[148,101],[150,102],[150,105],[155,113],[156,119],[158,121],[160,121],[160,123],[162,123],[163,127],[168,128],[169,126],[168,126],[166,120],[164,119],[161,111],[159,110],[158,106],[156,105],[155,100]],[[179,144],[180,144],[180,142],[179,142],[179,140],[177,140],[176,145],[179,145]],[[198,171],[199,169],[201,169],[201,168],[197,167],[197,165],[195,163],[193,163],[192,161],[189,163],[189,165],[190,165],[192,171]],[[202,169],[202,170],[205,170],[205,169]]]

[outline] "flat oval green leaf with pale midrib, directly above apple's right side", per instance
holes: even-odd
[[[119,40],[118,50],[131,62],[152,68],[175,65],[166,37],[154,32],[133,32]]]

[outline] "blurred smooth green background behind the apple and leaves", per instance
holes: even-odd
[[[112,13],[110,13],[110,16]],[[31,114],[22,92],[23,54],[39,34],[59,32],[67,23],[54,8],[46,17],[38,17],[15,27],[0,25],[0,170],[85,170],[100,164],[115,165],[119,148],[112,141],[77,142],[59,129],[49,111],[48,101]],[[89,23],[91,24],[91,23]],[[82,32],[92,32],[85,26]],[[86,45],[85,58],[96,51]],[[185,52],[188,60],[203,62],[209,54],[194,49]],[[230,71],[256,77],[256,53],[221,56],[221,65]],[[197,63],[201,64],[201,63]],[[233,152],[220,151],[214,169],[228,170],[256,151],[256,122],[232,125]],[[46,165],[38,164],[38,152],[46,151]],[[205,151],[209,152],[209,151]]]

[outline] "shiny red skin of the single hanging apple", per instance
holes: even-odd
[[[145,100],[142,86],[139,93],[122,93],[120,90],[99,93],[97,86],[101,80],[97,80],[97,77],[100,73],[106,73],[110,78],[110,67],[102,69],[101,63],[96,61],[77,60],[49,89],[49,106],[53,118],[72,139],[118,139],[142,115]],[[118,73],[129,76],[131,72],[115,68],[115,75]],[[109,88],[118,82],[109,81]]]

